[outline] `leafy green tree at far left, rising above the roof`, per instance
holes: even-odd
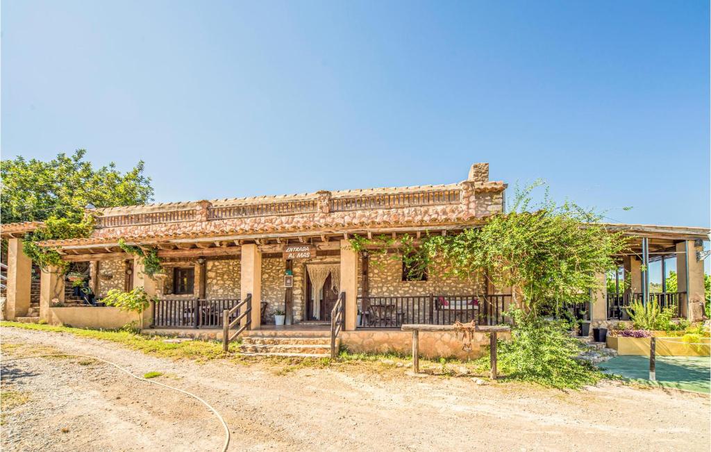
[[[56,251],[38,247],[37,242],[91,234],[93,218],[85,215],[85,206],[108,208],[152,199],[151,179],[144,176],[143,161],[123,173],[115,163],[95,168],[84,160],[85,154],[79,149],[50,161],[27,161],[21,156],[0,161],[2,222],[44,222],[23,241],[26,254],[41,267],[66,268],[66,264]]]

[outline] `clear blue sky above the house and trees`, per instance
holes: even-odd
[[[156,201],[449,183],[488,161],[614,220],[709,225],[707,1],[1,13],[3,158],[142,158]]]

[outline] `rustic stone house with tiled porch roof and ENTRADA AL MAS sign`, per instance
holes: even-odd
[[[400,331],[400,325],[501,323],[515,290],[493,287],[483,274],[466,280],[445,276],[442,263],[413,276],[397,254],[377,252],[372,244],[356,252],[349,239],[407,235],[416,241],[427,234],[477,227],[489,215],[504,211],[505,191],[506,183],[489,181],[488,163],[476,163],[465,181],[449,185],[95,209],[89,211],[96,217],[90,237],[44,244],[83,271],[98,301],[111,289],[142,286],[156,298],[142,319],[144,330],[151,333],[220,338],[223,311],[249,295],[252,310],[244,334],[251,348],[245,350],[267,350],[260,337],[324,337],[330,334],[334,306],[342,305],[341,344],[351,350],[406,352],[410,335]],[[95,328],[137,321],[135,314],[85,303],[55,269],[43,269],[41,284],[32,289],[33,266],[22,252],[21,237],[37,226],[3,227],[2,237],[9,240],[6,318]],[[651,296],[675,303],[679,316],[699,316],[696,305],[704,288],[697,252],[709,230],[608,227],[634,237],[641,259],[621,258],[621,266],[631,274],[627,294],[592,294],[586,311],[594,325],[619,320],[620,306],[648,288],[641,271],[645,259],[670,256],[677,258],[678,292]],[[157,250],[164,271],[153,277],[144,274],[141,259],[124,252],[119,240]],[[38,301],[31,301],[33,291],[39,292]],[[286,325],[277,328],[274,323],[282,313]],[[427,333],[422,340],[425,355],[461,355],[461,343],[451,333]],[[304,344],[289,348],[288,340],[282,345],[284,353],[320,353]]]

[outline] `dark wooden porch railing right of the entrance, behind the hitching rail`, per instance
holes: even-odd
[[[405,323],[451,325],[476,321],[500,325],[510,304],[510,295],[425,295],[358,297],[364,328],[400,328]]]

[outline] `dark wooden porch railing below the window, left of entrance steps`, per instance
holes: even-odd
[[[164,299],[153,303],[154,328],[220,328],[222,313],[239,303],[236,299]]]

